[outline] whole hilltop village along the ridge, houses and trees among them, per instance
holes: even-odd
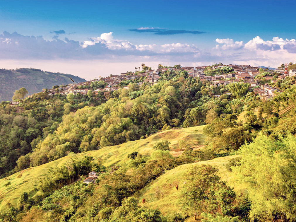
[[[250,65],[223,65],[216,64],[210,66],[185,66],[175,65],[173,67],[159,65],[157,70],[142,64],[142,70],[135,72],[120,73],[119,75],[110,75],[109,77],[95,78],[91,81],[72,83],[63,86],[54,86],[53,89],[46,89],[48,95],[54,94],[83,94],[86,95],[89,90],[94,95],[99,92],[106,93],[116,91],[120,88],[128,89],[129,83],[136,83],[139,87],[142,85],[153,85],[160,80],[161,76],[170,75],[177,72],[185,72],[185,75],[191,78],[199,78],[203,83],[208,83],[209,87],[226,86],[230,83],[247,83],[249,90],[259,94],[262,100],[268,100],[280,92],[276,87],[278,81],[282,82],[286,77],[296,75],[296,70],[291,69],[287,72],[287,66],[281,69],[272,70],[268,68],[252,67]],[[140,69],[140,67],[139,67]],[[28,96],[28,98],[33,95]],[[220,95],[215,95],[219,97]]]

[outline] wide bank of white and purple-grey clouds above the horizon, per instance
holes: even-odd
[[[142,28],[142,30],[151,29],[159,28]],[[60,64],[60,61],[64,64],[67,64],[67,61],[81,61],[79,65],[83,67],[86,64],[131,64],[144,61],[148,64],[162,63],[164,65],[181,63],[181,65],[194,66],[222,62],[224,64],[247,63],[278,67],[281,63],[296,59],[295,39],[274,37],[270,40],[263,40],[256,36],[246,42],[232,38],[216,38],[215,42],[214,47],[201,50],[198,45],[180,42],[133,44],[128,40],[115,38],[112,32],[102,33],[99,37],[91,37],[79,42],[68,38],[60,40],[57,37],[49,41],[42,36],[23,36],[16,32],[4,31],[0,34],[0,61],[14,60],[15,64],[22,64],[21,61],[24,60],[27,61],[25,64],[32,64],[32,62],[40,64],[38,61],[41,60],[50,61],[51,64]],[[105,69],[112,73],[115,66],[106,66]],[[74,74],[80,75],[80,73]]]

